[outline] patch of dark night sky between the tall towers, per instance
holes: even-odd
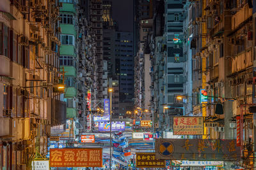
[[[132,31],[133,0],[112,0],[113,20],[118,22],[119,31]]]

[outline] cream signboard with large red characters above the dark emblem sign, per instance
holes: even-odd
[[[204,134],[203,117],[173,117],[174,135]]]

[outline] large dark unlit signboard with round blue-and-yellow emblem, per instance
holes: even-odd
[[[172,160],[236,161],[236,139],[156,139],[156,158]]]

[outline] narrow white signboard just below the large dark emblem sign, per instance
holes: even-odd
[[[223,166],[223,161],[194,161],[180,160],[180,166]]]

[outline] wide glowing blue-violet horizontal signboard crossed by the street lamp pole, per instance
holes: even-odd
[[[125,122],[112,122],[112,131],[125,131]],[[109,132],[110,122],[99,122],[99,131]]]

